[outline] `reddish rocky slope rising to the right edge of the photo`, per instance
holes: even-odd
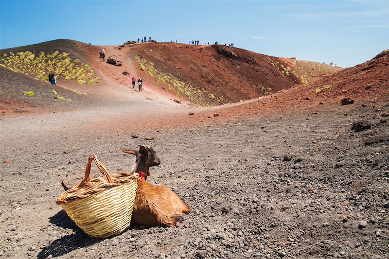
[[[318,106],[331,110],[341,106],[343,98],[354,99],[356,109],[364,109],[368,103],[389,102],[389,50],[353,68],[343,69],[314,82],[284,89],[257,102],[230,107],[228,112],[233,115],[254,115],[258,111],[295,112]]]

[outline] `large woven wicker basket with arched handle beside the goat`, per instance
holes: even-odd
[[[89,179],[92,161],[105,177]],[[131,223],[137,173],[110,175],[96,155],[90,156],[85,178],[56,199],[69,217],[92,238],[122,233]]]

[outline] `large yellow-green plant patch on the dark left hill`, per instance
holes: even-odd
[[[34,75],[36,78],[49,81],[47,75],[53,72],[57,79],[77,80],[79,84],[89,84],[101,82],[100,78],[94,78],[94,71],[90,66],[81,62],[79,59],[72,60],[69,53],[35,53],[35,52],[13,52],[4,53],[0,59],[0,66],[10,69],[14,72]]]

